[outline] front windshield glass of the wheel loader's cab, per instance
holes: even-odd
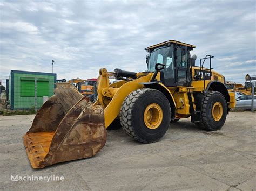
[[[149,72],[154,72],[154,66],[157,63],[165,65],[165,69],[168,68],[172,63],[172,49],[173,45],[154,49],[150,54],[147,70]]]

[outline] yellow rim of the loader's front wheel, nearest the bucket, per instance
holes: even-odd
[[[144,111],[144,123],[149,129],[157,129],[163,121],[163,110],[157,103],[147,105]]]

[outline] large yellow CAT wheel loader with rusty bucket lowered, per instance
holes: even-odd
[[[145,72],[100,69],[95,103],[71,84],[58,83],[23,137],[32,167],[92,157],[114,125],[142,143],[157,142],[170,122],[181,118],[191,117],[204,130],[219,130],[235,107],[235,95],[225,87],[225,77],[211,68],[213,56],[195,66],[193,48],[169,40],[145,48]],[[113,77],[118,81],[110,84]]]

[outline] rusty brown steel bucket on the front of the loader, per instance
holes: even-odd
[[[33,168],[92,157],[106,143],[103,107],[92,105],[70,83],[56,85],[23,137]]]

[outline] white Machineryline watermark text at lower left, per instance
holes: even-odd
[[[11,175],[11,181],[12,182],[18,182],[18,181],[64,181],[64,176],[56,176],[54,174],[50,176],[34,176],[34,175],[25,175],[25,176],[19,176],[19,175]]]

